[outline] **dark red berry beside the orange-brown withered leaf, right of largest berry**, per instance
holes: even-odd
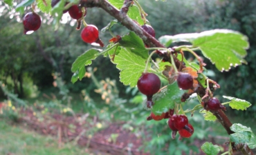
[[[193,87],[193,78],[188,73],[179,72],[177,83],[181,89],[188,90]]]

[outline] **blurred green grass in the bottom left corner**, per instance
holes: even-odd
[[[12,155],[86,155],[85,149],[71,143],[58,148],[57,140],[50,136],[42,136],[22,127],[8,125],[0,120],[0,154]]]

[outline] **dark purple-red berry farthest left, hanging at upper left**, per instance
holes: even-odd
[[[24,34],[28,31],[36,31],[40,28],[41,18],[35,12],[28,12],[23,18]]]

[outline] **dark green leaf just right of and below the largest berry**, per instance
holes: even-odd
[[[173,109],[175,103],[181,103],[181,96],[184,93],[185,90],[181,90],[176,81],[167,85],[165,89],[153,96],[152,101],[154,102],[154,105],[152,107],[152,112],[154,114],[162,114],[169,109]]]

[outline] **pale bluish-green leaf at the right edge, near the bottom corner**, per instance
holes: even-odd
[[[246,143],[250,149],[256,148],[256,137],[250,127],[235,123],[230,127],[230,130],[235,132],[230,134],[230,141],[235,142],[235,144]]]

